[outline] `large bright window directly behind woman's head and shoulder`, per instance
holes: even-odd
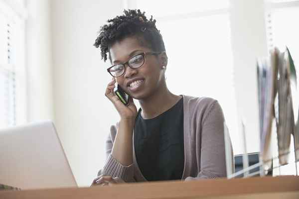
[[[218,100],[230,134],[237,134],[229,1],[171,1],[171,9],[165,9],[169,2],[137,1],[138,8],[157,20],[163,36],[169,90]]]

